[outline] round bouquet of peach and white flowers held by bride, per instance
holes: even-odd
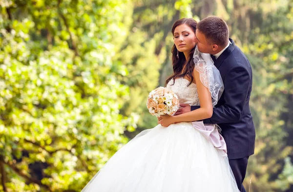
[[[173,115],[179,109],[179,100],[173,91],[160,86],[149,93],[146,106],[150,114],[156,117]]]

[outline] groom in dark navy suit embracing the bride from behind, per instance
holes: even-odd
[[[196,39],[199,51],[211,54],[220,71],[224,92],[213,109],[212,117],[205,124],[218,124],[227,144],[230,167],[238,189],[246,192],[244,180],[248,158],[254,153],[255,129],[249,100],[252,86],[251,64],[243,52],[229,39],[225,21],[211,16],[198,22]],[[186,113],[200,106],[181,105],[175,115]]]

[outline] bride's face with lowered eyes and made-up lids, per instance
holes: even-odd
[[[178,51],[189,53],[195,46],[194,39],[195,33],[187,24],[175,28],[173,40]]]

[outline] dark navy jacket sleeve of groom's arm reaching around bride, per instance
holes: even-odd
[[[239,121],[246,103],[250,86],[250,75],[243,66],[235,66],[227,73],[224,88],[225,103],[213,108],[211,118],[205,119],[205,124],[234,123]],[[199,106],[191,106],[195,110]]]

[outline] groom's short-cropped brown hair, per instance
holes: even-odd
[[[211,44],[225,46],[229,41],[227,23],[216,16],[210,16],[199,21],[197,29],[205,35],[207,41]]]

